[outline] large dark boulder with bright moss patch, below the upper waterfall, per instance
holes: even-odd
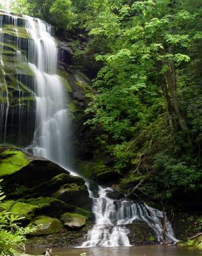
[[[47,159],[31,156],[17,148],[0,148],[0,177],[7,198],[52,195],[47,186],[40,190],[40,184],[60,174],[68,175],[68,172]]]

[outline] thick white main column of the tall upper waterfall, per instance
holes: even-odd
[[[33,154],[66,167],[66,134],[69,130],[66,93],[57,75],[58,50],[52,27],[40,19],[24,16],[29,40],[29,67],[35,74],[36,131]]]

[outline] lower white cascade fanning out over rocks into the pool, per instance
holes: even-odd
[[[89,184],[87,182],[89,189]],[[114,200],[107,197],[107,193],[113,191],[111,188],[98,186],[98,197],[93,195],[89,189],[89,195],[93,199],[93,213],[95,214],[95,225],[88,231],[87,239],[83,247],[93,246],[130,246],[128,233],[125,225],[136,220],[144,221],[155,232],[159,243],[164,241],[164,228],[162,220],[163,212],[153,209],[148,205],[136,204],[132,201],[120,199]],[[171,223],[166,222],[166,243],[176,243]]]

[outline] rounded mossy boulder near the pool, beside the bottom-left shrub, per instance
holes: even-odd
[[[29,232],[31,236],[42,236],[58,233],[63,228],[63,224],[56,218],[38,216],[27,227],[31,228]]]

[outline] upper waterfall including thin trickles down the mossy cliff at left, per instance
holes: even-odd
[[[28,81],[29,95],[35,99],[35,109],[33,114],[27,113],[27,118],[22,120],[22,112],[24,111],[22,76],[17,72],[17,92],[18,101],[17,111],[19,112],[19,133],[22,131],[22,122],[32,122],[33,142],[27,150],[31,150],[35,156],[42,156],[59,165],[66,167],[66,152],[68,147],[67,134],[70,131],[68,121],[68,95],[66,95],[62,79],[57,74],[58,66],[58,45],[52,36],[52,26],[40,19],[35,19],[27,15],[17,17],[10,12],[3,12],[6,15],[0,15],[0,61],[1,61],[1,95],[4,96],[6,102],[1,103],[1,142],[6,142],[7,127],[12,126],[13,109],[10,109],[10,97],[8,92],[8,83],[6,82],[6,72],[4,70],[3,51],[5,45],[10,46],[10,42],[15,45],[15,51],[18,63],[24,65],[33,74],[31,80]],[[20,24],[20,26],[19,26]],[[12,29],[10,28],[12,26]],[[10,35],[4,36],[4,30],[9,30]],[[20,38],[18,29],[24,29],[27,40]],[[14,33],[13,33],[14,32]],[[4,44],[4,46],[3,46]],[[10,46],[11,47],[11,46]],[[26,50],[26,56],[24,56]],[[25,95],[26,96],[26,95]],[[30,120],[31,119],[31,120]],[[17,125],[17,124],[16,124]],[[35,132],[34,132],[35,131]],[[28,130],[28,132],[30,132]]]

